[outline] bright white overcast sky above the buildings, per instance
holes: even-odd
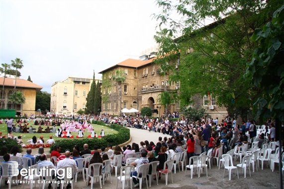
[[[50,93],[67,76],[95,77],[154,47],[154,0],[0,0],[0,63]]]

